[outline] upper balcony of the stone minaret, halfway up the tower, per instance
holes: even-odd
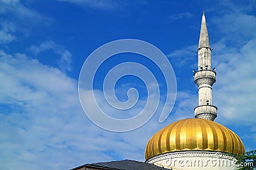
[[[207,70],[207,69],[200,70],[200,71],[196,71],[193,77],[198,87],[204,84],[212,86],[216,81],[216,72],[212,70]]]

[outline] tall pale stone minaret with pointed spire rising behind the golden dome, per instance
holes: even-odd
[[[211,50],[203,12],[198,44],[198,71],[194,70],[194,80],[198,85],[198,106],[194,109],[195,118],[214,120],[217,107],[212,105],[212,85],[216,81],[216,72],[211,69]]]

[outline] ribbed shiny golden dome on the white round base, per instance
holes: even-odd
[[[227,127],[203,118],[187,118],[170,124],[149,139],[145,159],[166,152],[211,150],[244,154],[241,139]]]

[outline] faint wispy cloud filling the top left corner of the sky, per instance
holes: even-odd
[[[38,13],[38,11],[28,8],[18,0],[0,1],[0,14],[1,26],[3,27],[3,24],[8,24],[14,28],[8,31],[4,29],[0,31],[2,43],[9,43],[17,39],[17,36],[15,36],[17,32],[22,32],[22,34],[28,36],[32,28],[38,27],[38,25],[42,28],[50,25],[53,21],[51,17],[47,17]]]

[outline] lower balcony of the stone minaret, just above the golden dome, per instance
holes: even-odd
[[[211,117],[217,117],[218,108],[213,105],[201,105],[197,106],[195,111],[195,118],[205,118],[207,115],[211,115]]]

